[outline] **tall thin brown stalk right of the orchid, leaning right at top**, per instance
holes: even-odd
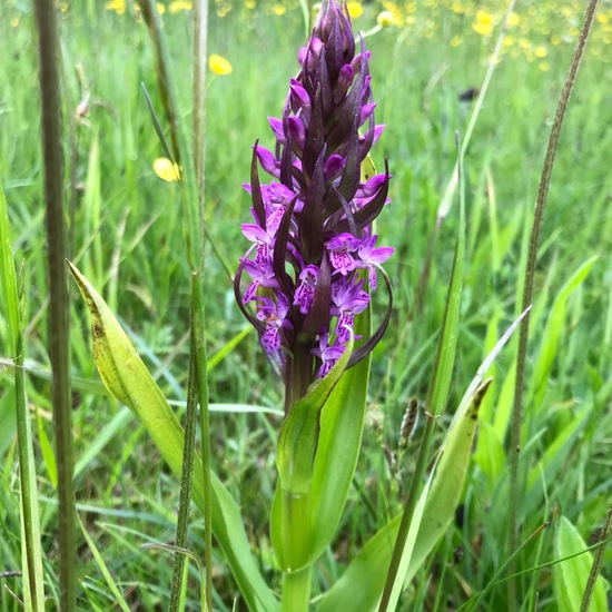
[[[593,24],[593,18],[598,7],[598,0],[590,0],[586,7],[584,16],[584,22],[580,31],[580,36],[574,50],[574,56],[565,77],[563,90],[561,91],[561,98],[556,108],[553,127],[549,137],[549,145],[546,148],[546,155],[544,158],[544,167],[542,169],[542,176],[540,178],[540,187],[537,189],[537,197],[535,200],[535,211],[533,217],[533,225],[531,228],[527,263],[525,268],[525,284],[523,287],[523,302],[521,309],[525,310],[533,299],[533,285],[535,278],[535,269],[537,265],[537,248],[540,244],[540,231],[544,219],[544,210],[546,206],[546,197],[549,194],[549,186],[551,182],[551,175],[554,166],[554,158],[556,155],[556,148],[559,145],[559,136],[570,102],[570,97],[574,88],[576,75],[586,48],[586,41],[589,33]],[[510,551],[515,551],[520,540],[519,533],[519,499],[521,497],[521,478],[519,474],[519,460],[521,453],[521,425],[523,423],[523,389],[525,385],[525,366],[527,356],[527,342],[530,332],[530,313],[525,316],[521,324],[521,334],[519,337],[519,353],[516,357],[516,381],[514,386],[514,404],[512,411],[512,426],[511,426],[511,454],[510,454],[510,529],[509,529],[509,546]],[[513,557],[510,567],[510,573],[516,573],[516,559]],[[509,610],[512,612],[516,610],[516,582],[511,580],[509,582]]]

